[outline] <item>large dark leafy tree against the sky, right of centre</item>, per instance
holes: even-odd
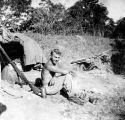
[[[98,0],[79,0],[67,10],[66,24],[77,26],[81,32],[104,36],[107,14],[107,8]]]

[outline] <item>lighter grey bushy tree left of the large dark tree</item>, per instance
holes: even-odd
[[[43,0],[40,5],[40,8],[32,11],[31,18],[27,21],[30,23],[29,29],[44,34],[51,33],[58,29],[57,23],[63,19],[65,8],[61,4],[53,4],[50,0]],[[27,22],[24,22],[21,28],[25,27]]]

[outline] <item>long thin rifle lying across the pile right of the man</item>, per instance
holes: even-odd
[[[96,59],[96,58],[98,58],[98,57],[103,56],[104,53],[107,53],[107,52],[109,52],[109,51],[111,51],[111,50],[112,50],[112,49],[106,50],[106,51],[104,51],[104,52],[102,52],[102,53],[100,53],[100,54],[98,54],[98,55],[95,55],[95,56],[93,56],[93,57],[90,57],[90,58],[83,58],[83,59],[80,59],[80,60],[72,61],[71,64],[74,64],[74,63],[77,63],[77,64],[78,64],[78,63],[86,62],[87,59],[88,59],[88,60]]]

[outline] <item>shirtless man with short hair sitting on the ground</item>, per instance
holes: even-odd
[[[68,73],[71,71],[63,68],[60,64],[60,58],[60,50],[54,49],[51,51],[50,59],[42,69],[41,78],[43,87],[41,88],[41,94],[43,98],[46,95],[58,93],[63,88],[65,79],[71,79],[71,77],[68,77]]]

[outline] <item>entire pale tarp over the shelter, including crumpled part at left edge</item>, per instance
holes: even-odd
[[[2,34],[0,42],[5,44],[12,41],[17,42],[17,39],[15,38],[18,38],[18,42],[20,42],[24,49],[24,65],[46,63],[47,60],[43,50],[35,40],[22,33],[11,33],[5,27],[2,27],[1,29]]]

